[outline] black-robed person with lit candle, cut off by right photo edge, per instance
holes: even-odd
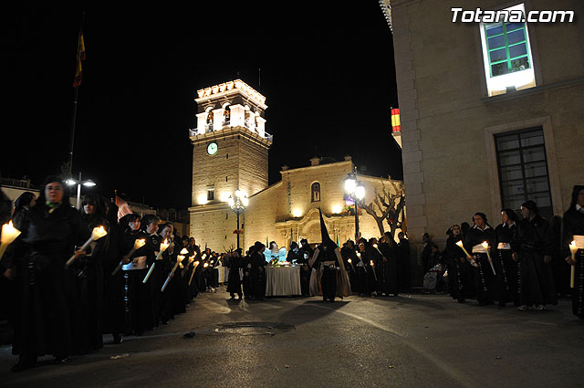
[[[572,201],[564,213],[562,256],[574,272],[574,288],[572,288],[572,312],[584,319],[584,185],[575,185],[572,190]],[[572,244],[573,242],[573,244]],[[570,251],[572,244],[572,255]]]

